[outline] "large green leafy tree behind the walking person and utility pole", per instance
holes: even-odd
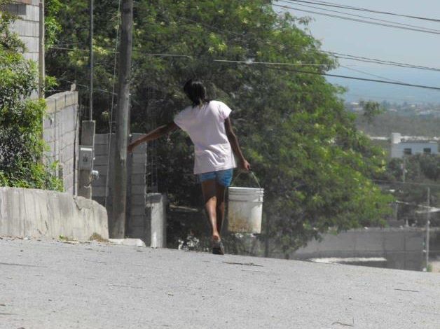
[[[63,42],[86,43],[86,2],[63,2]],[[111,90],[117,2],[101,5],[107,10],[95,17],[97,85]],[[209,97],[233,109],[240,144],[266,190],[266,235],[286,252],[329,228],[382,225],[390,202],[371,181],[385,170],[383,152],[357,132],[342,90],[317,74],[337,63],[319,51],[307,25],[263,0],[141,0],[135,8],[132,131],[172,120],[188,105],[185,80],[204,80]],[[86,85],[86,63],[86,53],[74,50],[50,64],[51,74]],[[99,111],[107,113],[109,99],[99,96]],[[184,133],[158,141],[157,154],[160,191],[176,204],[200,205]]]

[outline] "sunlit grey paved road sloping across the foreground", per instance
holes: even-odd
[[[4,238],[0,328],[440,328],[440,275]]]

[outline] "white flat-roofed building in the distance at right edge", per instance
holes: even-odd
[[[402,137],[398,132],[391,134],[391,158],[415,154],[439,154],[439,142],[427,137]]]

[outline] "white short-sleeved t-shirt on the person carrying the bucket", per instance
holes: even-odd
[[[235,168],[225,120],[231,109],[223,102],[188,106],[174,117],[174,123],[188,133],[194,144],[194,174]]]

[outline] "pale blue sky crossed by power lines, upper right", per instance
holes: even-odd
[[[315,0],[308,0],[315,1]],[[388,11],[404,15],[421,16],[427,18],[440,19],[439,0],[325,0],[331,3],[339,3],[348,6],[369,8],[373,10]],[[315,8],[300,6],[300,3],[287,3],[284,1],[274,2],[282,6],[291,6],[298,9],[322,12]],[[310,3],[303,5],[316,6]],[[414,20],[411,18],[399,18],[391,15],[380,15],[351,11],[342,8],[331,8],[316,6],[327,10],[338,10],[356,15],[365,15],[381,20],[390,20],[408,25],[417,25],[431,29],[438,29],[439,34],[426,34],[418,31],[408,31],[394,29],[392,27],[380,27],[376,25],[364,24],[362,22],[351,22],[337,18],[328,18],[313,13],[303,13],[298,10],[290,10],[295,16],[309,16],[313,18],[309,29],[315,38],[322,43],[323,50],[340,52],[344,54],[385,59],[393,62],[404,62],[408,64],[418,64],[440,68],[440,22],[428,22],[424,20]],[[285,10],[275,7],[275,10]],[[326,12],[329,13],[329,12]],[[339,13],[329,13],[341,15]],[[362,18],[359,18],[362,19]],[[357,69],[372,73],[392,80],[404,83],[421,85],[432,85],[440,87],[440,72],[421,71],[416,69],[398,68],[395,66],[382,66],[364,62],[355,62],[340,59],[340,64],[348,66],[350,69]],[[362,78],[377,77],[368,76],[340,67],[331,73],[345,76],[356,76]],[[341,78],[329,78],[331,83],[337,83],[348,87],[346,99],[350,102],[359,98],[373,99],[380,101],[387,99],[391,102],[432,102],[440,104],[440,91],[429,91],[418,88],[384,85],[380,83],[356,82]]]

